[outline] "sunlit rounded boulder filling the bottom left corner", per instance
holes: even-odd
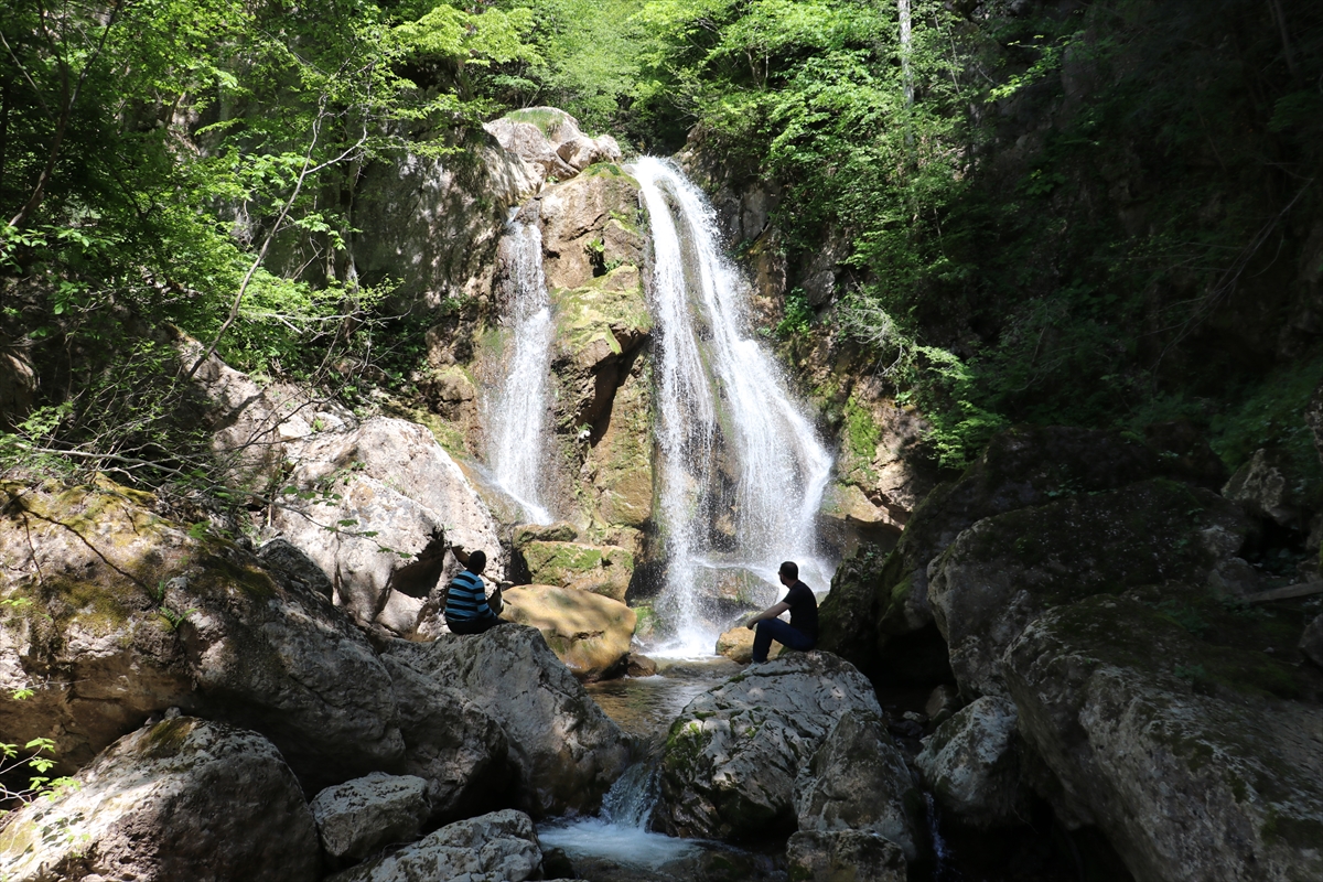
[[[320,877],[303,792],[255,733],[177,717],[120,739],[77,780],[20,809],[0,833],[5,879]]]

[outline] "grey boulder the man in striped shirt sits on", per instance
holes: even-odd
[[[619,727],[536,628],[503,624],[435,643],[397,640],[386,653],[500,723],[516,778],[512,799],[536,817],[594,811],[628,763]]]

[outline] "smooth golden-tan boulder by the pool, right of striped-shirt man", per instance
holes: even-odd
[[[630,652],[638,616],[619,600],[550,584],[507,588],[503,594],[501,618],[537,628],[577,677],[601,677]]]

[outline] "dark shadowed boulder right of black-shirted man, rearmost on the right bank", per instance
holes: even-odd
[[[818,645],[875,676],[892,661],[892,644],[931,627],[929,563],[976,521],[1155,475],[1185,477],[1183,463],[1119,432],[1060,426],[1002,431],[958,481],[925,497],[890,555],[881,559],[864,546],[843,562],[820,608]]]

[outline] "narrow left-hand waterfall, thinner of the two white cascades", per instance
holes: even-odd
[[[496,484],[529,521],[550,524],[541,500],[553,327],[537,223],[511,222],[501,249],[509,267],[507,327],[513,352],[487,407],[487,461]]]

